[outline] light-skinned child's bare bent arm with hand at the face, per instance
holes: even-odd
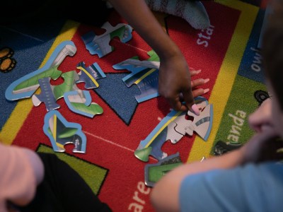
[[[246,163],[282,158],[282,153],[278,153],[275,157],[276,148],[282,146],[282,142],[278,143],[274,140],[276,136],[277,133],[274,129],[265,129],[265,131],[255,134],[248,143],[234,151],[221,156],[214,156],[202,162],[188,163],[176,167],[162,177],[151,191],[151,202],[154,208],[157,211],[178,211],[180,185],[187,176],[211,170],[232,169]]]

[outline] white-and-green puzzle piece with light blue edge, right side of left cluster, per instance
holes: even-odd
[[[96,114],[102,114],[103,108],[96,102],[91,102],[91,94],[88,90],[74,90],[64,93],[64,100],[69,110],[86,117],[93,118]]]

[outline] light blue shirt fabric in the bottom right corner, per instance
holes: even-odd
[[[183,179],[180,211],[282,211],[282,163],[247,164]]]

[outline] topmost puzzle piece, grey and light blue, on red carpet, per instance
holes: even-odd
[[[91,54],[98,54],[98,57],[103,57],[114,50],[114,47],[109,45],[110,40],[114,37],[119,37],[121,42],[128,42],[132,39],[132,27],[125,23],[112,26],[109,22],[105,22],[101,28],[106,30],[103,35],[96,35],[91,31],[81,36],[86,49]]]

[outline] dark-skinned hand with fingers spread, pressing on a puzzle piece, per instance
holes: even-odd
[[[209,79],[197,78],[191,81],[191,76],[200,71],[189,71],[183,55],[161,61],[159,67],[158,93],[168,100],[174,110],[192,110],[194,98],[207,93],[209,89],[193,88],[207,83]],[[185,102],[185,105],[182,103]]]

